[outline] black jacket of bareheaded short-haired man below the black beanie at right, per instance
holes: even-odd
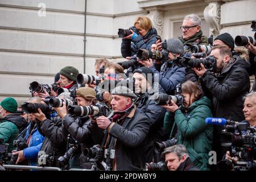
[[[249,64],[240,57],[234,57],[234,61],[221,71],[217,76],[209,71],[205,72],[201,81],[203,89],[210,92],[213,102],[213,117],[242,121],[243,96],[250,90],[248,72]]]

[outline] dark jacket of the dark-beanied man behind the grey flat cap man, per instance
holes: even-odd
[[[152,162],[154,143],[160,142],[164,137],[163,119],[166,109],[160,105],[156,105],[154,100],[155,94],[164,93],[162,86],[160,84],[158,86],[159,89],[157,89],[156,85],[152,85],[152,89],[146,94],[141,94],[139,100],[136,102],[140,113],[146,116],[150,122],[150,131],[147,136],[147,151],[145,154],[147,163]]]

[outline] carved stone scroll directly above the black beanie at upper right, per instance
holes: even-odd
[[[210,2],[207,7],[204,9],[204,18],[205,21],[210,26],[210,35],[212,34],[215,38],[220,34],[221,24],[221,2]]]

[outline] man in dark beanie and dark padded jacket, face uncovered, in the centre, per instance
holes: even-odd
[[[164,90],[158,83],[154,83],[154,73],[149,68],[135,69],[133,78],[135,93],[139,96],[135,105],[150,121],[146,150],[146,162],[150,163],[153,161],[154,142],[160,142],[164,137],[163,118],[166,113],[166,109],[156,105],[153,98],[154,94],[164,93]]]

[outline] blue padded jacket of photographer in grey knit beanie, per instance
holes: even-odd
[[[159,84],[167,94],[174,94],[176,85],[185,81],[185,68],[173,65],[171,61],[163,65],[155,64],[150,69],[159,75]]]

